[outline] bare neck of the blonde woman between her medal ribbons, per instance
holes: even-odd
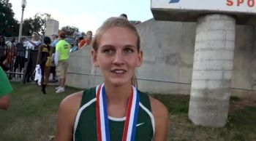
[[[129,95],[132,93],[132,84],[115,86],[105,83],[105,91],[108,98],[108,104],[128,103]]]

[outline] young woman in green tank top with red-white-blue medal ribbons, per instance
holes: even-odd
[[[143,62],[135,26],[110,17],[94,36],[91,55],[105,82],[61,102],[56,140],[166,140],[167,108],[132,86],[135,68]]]

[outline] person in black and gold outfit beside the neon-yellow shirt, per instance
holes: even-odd
[[[50,76],[50,67],[51,67],[51,55],[53,54],[53,49],[50,47],[50,38],[46,36],[44,38],[44,43],[39,46],[39,51],[37,55],[37,64],[40,65],[41,68],[41,86],[42,86],[42,93],[46,94],[45,87],[48,84],[48,79]]]

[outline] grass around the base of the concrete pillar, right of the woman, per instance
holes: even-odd
[[[227,124],[222,128],[195,126],[187,116],[189,96],[153,95],[162,101],[170,112],[170,132],[168,140],[256,140],[256,106],[240,105],[230,110]],[[230,106],[241,102],[238,97],[230,97]]]

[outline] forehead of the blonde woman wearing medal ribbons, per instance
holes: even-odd
[[[125,46],[127,44],[137,47],[138,36],[127,28],[109,28],[99,38],[99,47],[105,44]]]

